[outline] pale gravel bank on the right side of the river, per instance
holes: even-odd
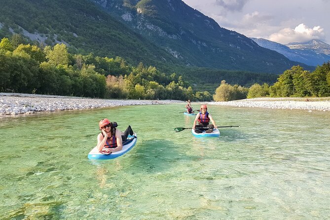
[[[230,102],[210,102],[209,105],[266,109],[299,109],[330,111],[330,98],[255,98]]]

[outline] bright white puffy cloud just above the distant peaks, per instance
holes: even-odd
[[[294,29],[284,28],[277,33],[271,34],[268,39],[279,43],[306,42],[311,39],[323,39],[324,29],[320,26],[308,28],[304,24],[299,24]]]

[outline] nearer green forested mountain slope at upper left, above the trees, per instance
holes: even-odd
[[[48,45],[65,43],[75,53],[120,56],[132,65],[182,65],[89,0],[1,1],[0,39],[12,33]]]

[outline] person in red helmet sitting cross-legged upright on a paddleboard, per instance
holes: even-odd
[[[198,124],[196,124],[197,121]],[[212,124],[210,124],[210,121]],[[201,109],[195,117],[192,129],[194,129],[196,133],[202,133],[203,130],[206,130],[206,133],[211,133],[215,127],[217,127],[216,122],[214,122],[212,115],[207,112],[207,106],[201,105]]]

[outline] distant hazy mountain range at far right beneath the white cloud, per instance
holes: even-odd
[[[259,46],[275,50],[288,59],[310,66],[322,65],[330,60],[330,45],[320,40],[310,40],[305,43],[280,44],[263,38],[251,37]]]

